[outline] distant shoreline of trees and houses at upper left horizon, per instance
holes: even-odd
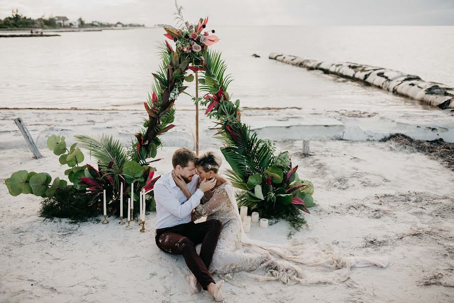
[[[82,18],[77,19],[78,27],[115,27],[115,23],[103,23],[98,21],[92,21],[90,23],[85,22]],[[143,24],[123,24],[123,26],[140,27]],[[57,24],[55,18],[50,16],[45,18],[44,16],[38,19],[32,19],[23,16],[19,13],[19,10],[13,10],[11,17],[0,19],[0,28],[59,28],[62,27]],[[72,27],[63,26],[63,27]]]

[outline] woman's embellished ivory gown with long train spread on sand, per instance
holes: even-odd
[[[206,201],[204,203],[204,200]],[[386,257],[346,257],[339,250],[314,238],[293,239],[280,245],[249,239],[244,233],[233,187],[218,186],[195,209],[195,219],[217,219],[223,229],[213,255],[210,272],[226,274],[265,269],[266,274],[249,273],[259,280],[280,280],[286,284],[336,283],[346,280],[350,267],[386,267]]]

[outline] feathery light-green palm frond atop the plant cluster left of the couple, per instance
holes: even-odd
[[[74,137],[81,143],[82,147],[89,150],[90,156],[96,158],[100,168],[106,169],[114,160],[114,166],[117,169],[122,169],[123,165],[130,160],[120,140],[115,139],[110,134],[102,134],[97,137],[86,135]]]

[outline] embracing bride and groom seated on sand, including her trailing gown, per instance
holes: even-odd
[[[315,238],[287,244],[249,239],[242,229],[233,186],[218,173],[221,163],[211,151],[197,158],[192,151],[179,148],[172,157],[173,170],[154,187],[156,244],[165,252],[183,255],[192,272],[188,280],[193,293],[203,288],[216,301],[223,300],[224,280],[215,283],[212,273],[264,268],[265,277],[253,276],[309,285],[345,281],[350,267],[387,266],[387,257],[345,256],[334,245]],[[207,220],[193,222],[201,217]]]

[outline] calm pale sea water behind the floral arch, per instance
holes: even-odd
[[[316,110],[427,108],[374,87],[269,60],[272,52],[400,70],[454,86],[454,27],[219,27],[234,81],[247,107]],[[140,109],[158,68],[159,28],[62,32],[60,37],[0,38],[1,108]],[[261,58],[251,57],[258,54]],[[193,83],[191,83],[193,84]],[[190,86],[188,93],[194,93]],[[191,109],[186,95],[177,109]]]

